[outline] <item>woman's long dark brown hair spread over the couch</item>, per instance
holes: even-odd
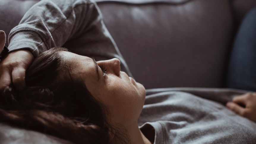
[[[85,84],[71,77],[61,51],[67,50],[52,48],[35,58],[26,71],[25,89],[17,91],[11,84],[1,91],[0,121],[78,144],[110,143],[114,131],[117,143],[129,143],[108,124],[108,111]]]

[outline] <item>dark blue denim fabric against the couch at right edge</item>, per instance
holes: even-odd
[[[227,88],[256,91],[256,8],[246,15],[238,30],[226,82]]]

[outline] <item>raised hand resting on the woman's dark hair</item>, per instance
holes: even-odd
[[[26,86],[25,72],[34,60],[29,50],[17,50],[9,53],[0,62],[0,90],[3,90],[11,81],[16,89],[20,90]]]

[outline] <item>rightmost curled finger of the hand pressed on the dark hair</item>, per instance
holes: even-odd
[[[26,86],[25,72],[26,72],[26,69],[24,69],[23,67],[15,68],[12,71],[12,82],[17,90],[21,90]]]

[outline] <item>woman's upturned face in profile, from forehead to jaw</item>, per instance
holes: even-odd
[[[145,88],[125,72],[113,58],[95,61],[86,56],[61,52],[69,62],[71,74],[83,80],[89,92],[109,111],[109,122],[129,126],[136,122],[143,108]]]

